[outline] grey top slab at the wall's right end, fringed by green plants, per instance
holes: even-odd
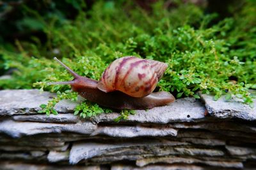
[[[218,100],[214,100],[211,95],[200,93],[200,97],[205,102],[205,107],[211,116],[215,118],[238,118],[241,120],[255,121],[256,120],[256,107],[251,108],[247,104],[243,104],[241,100],[232,98],[232,100],[225,100],[222,96]],[[256,105],[256,100],[254,105]]]

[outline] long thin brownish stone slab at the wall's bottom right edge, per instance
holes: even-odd
[[[157,164],[157,163],[164,163],[164,164],[205,164],[207,166],[214,166],[214,167],[232,167],[232,168],[243,168],[243,164],[236,160],[220,160],[220,161],[213,161],[213,160],[204,160],[199,158],[186,158],[186,157],[152,157],[152,158],[143,158],[140,160],[136,160],[137,166],[146,166],[148,164]]]

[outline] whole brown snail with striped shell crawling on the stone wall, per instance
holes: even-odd
[[[58,63],[70,72],[74,79],[51,84],[70,84],[82,97],[113,109],[152,109],[174,102],[166,91],[154,92],[157,82],[167,68],[166,63],[132,56],[113,61],[102,73],[100,81],[78,75],[57,58]]]

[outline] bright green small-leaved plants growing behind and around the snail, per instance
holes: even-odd
[[[40,29],[46,42],[36,36],[17,39],[15,45],[2,42],[0,66],[17,70],[12,79],[1,80],[0,87],[58,92],[57,98],[41,105],[42,112],[57,114],[53,107],[59,100],[77,98],[70,86],[47,86],[46,82],[72,79],[52,60],[54,56],[79,75],[96,80],[116,58],[155,59],[169,66],[157,90],[170,91],[177,98],[199,98],[196,91],[201,90],[214,94],[216,100],[221,95],[227,100],[236,96],[252,104],[248,89],[256,89],[255,1],[245,1],[232,17],[218,22],[218,14],[206,14],[202,7],[179,1],[175,8],[159,1],[151,10],[126,1],[97,1],[85,12],[77,7],[74,20],[42,17],[23,8],[27,18],[21,25]],[[104,111],[110,110],[86,102],[77,105],[75,114],[85,118]]]

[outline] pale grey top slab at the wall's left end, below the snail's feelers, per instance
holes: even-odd
[[[0,91],[0,115],[36,114],[39,105],[47,104],[55,94],[38,89],[6,89]],[[61,100],[56,105],[58,112],[73,112],[77,102]]]

